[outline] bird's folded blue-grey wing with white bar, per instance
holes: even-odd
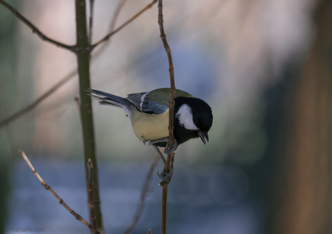
[[[168,106],[158,104],[157,102],[149,100],[149,92],[140,92],[140,93],[131,93],[125,98],[132,105],[136,107],[136,109],[144,114],[162,114],[165,110],[168,109]]]

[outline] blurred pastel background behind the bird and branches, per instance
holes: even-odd
[[[146,0],[128,0],[116,26]],[[75,44],[74,1],[10,1],[44,34]],[[118,1],[95,1],[93,42]],[[88,5],[88,4],[87,4]],[[181,145],[169,185],[169,233],[332,233],[332,3],[315,0],[168,0],[164,28],[176,88],[212,107],[206,146]],[[115,95],[169,87],[157,5],[112,37],[91,65],[92,88]],[[75,54],[42,41],[0,5],[0,121],[29,105],[77,66]],[[93,55],[94,56],[94,55]],[[88,220],[77,76],[0,127],[4,233],[43,227],[89,233],[35,178]],[[129,225],[155,151],[124,111],[93,100],[106,233]],[[161,162],[157,169],[161,171]],[[161,188],[132,233],[160,232]]]

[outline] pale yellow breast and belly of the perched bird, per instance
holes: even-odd
[[[168,137],[168,109],[159,115],[147,115],[134,111],[131,124],[140,141],[157,140]]]

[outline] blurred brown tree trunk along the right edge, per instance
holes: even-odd
[[[319,2],[314,24],[316,35],[291,94],[269,233],[332,233],[331,0]]]

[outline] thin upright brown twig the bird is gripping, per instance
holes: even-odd
[[[170,99],[169,99],[169,122],[168,122],[168,131],[169,131],[169,149],[172,148],[174,145],[174,125],[173,125],[173,115],[174,115],[174,105],[175,105],[175,81],[174,81],[174,68],[173,68],[173,61],[172,61],[172,55],[171,55],[171,49],[167,43],[166,40],[166,34],[164,31],[163,26],[163,5],[162,0],[158,1],[158,24],[159,24],[159,30],[160,30],[160,37],[163,41],[168,62],[169,62],[169,75],[170,75],[170,82],[171,82],[171,88],[170,88]],[[173,160],[172,160],[173,159]],[[165,165],[165,171],[168,173],[170,171],[170,167],[173,167],[173,161],[174,161],[174,153],[167,155],[166,165]],[[161,205],[161,234],[166,234],[166,221],[167,221],[167,193],[168,193],[168,184],[170,182],[170,179],[167,181],[162,181],[159,185],[163,187],[162,189],[162,205]]]

